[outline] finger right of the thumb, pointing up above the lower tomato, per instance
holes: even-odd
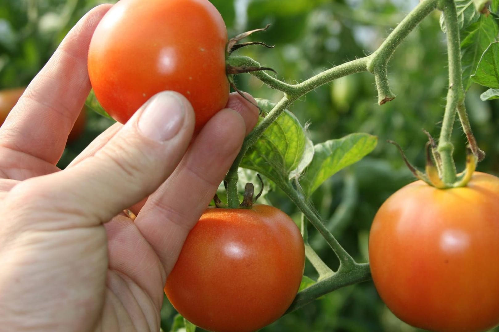
[[[247,103],[245,101],[245,103]],[[213,198],[258,110],[247,106],[245,116],[222,110],[203,128],[175,172],[150,196],[135,220],[156,250],[167,274],[184,240]],[[245,121],[247,118],[247,121]]]

